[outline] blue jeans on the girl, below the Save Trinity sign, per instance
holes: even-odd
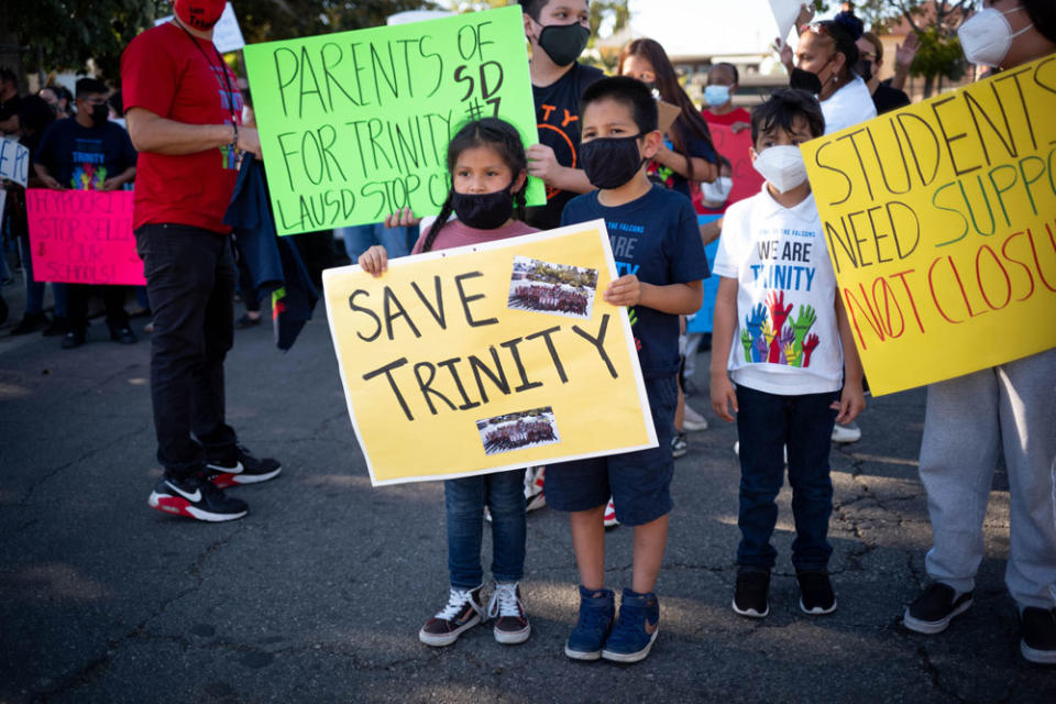
[[[476,588],[484,582],[481,543],[484,506],[492,512],[492,575],[518,582],[525,575],[525,471],[510,470],[443,483],[448,519],[451,586]]]

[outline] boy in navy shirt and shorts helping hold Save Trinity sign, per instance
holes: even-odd
[[[653,593],[668,539],[671,433],[678,402],[679,316],[701,306],[707,258],[690,200],[650,183],[646,164],[663,143],[657,102],[630,77],[603,78],[582,101],[580,160],[600,190],[564,208],[561,224],[604,218],[620,276],[605,300],[631,307],[646,393],[659,446],[650,450],[553,465],[547,503],[571,513],[580,570],[580,617],[564,652],[576,660],[637,662],[657,638],[660,605]],[[612,496],[619,522],[635,528],[631,587],[619,618],[605,588],[603,514]]]

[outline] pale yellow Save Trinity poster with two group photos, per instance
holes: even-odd
[[[323,272],[375,485],[657,446],[602,220]]]

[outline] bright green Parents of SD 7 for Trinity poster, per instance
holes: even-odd
[[[438,213],[448,142],[470,120],[539,141],[518,6],[244,52],[279,234]],[[530,178],[528,204],[544,202]]]

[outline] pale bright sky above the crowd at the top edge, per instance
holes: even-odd
[[[769,0],[630,0],[629,8],[631,26],[674,56],[766,52],[778,34]]]

